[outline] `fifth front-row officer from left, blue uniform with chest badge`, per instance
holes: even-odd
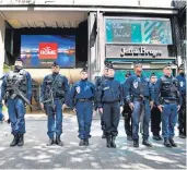
[[[135,74],[126,81],[126,100],[132,110],[132,138],[133,147],[139,147],[139,122],[141,120],[143,131],[142,144],[152,147],[149,142],[150,110],[150,87],[149,81],[142,75],[142,64],[135,64]],[[151,100],[151,102],[153,102]]]

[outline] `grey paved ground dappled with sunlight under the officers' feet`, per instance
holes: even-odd
[[[177,148],[166,148],[163,142],[150,141],[154,147],[140,144],[133,148],[127,142],[124,121],[119,123],[117,148],[106,148],[101,138],[100,120],[92,123],[90,146],[80,147],[75,116],[63,116],[63,147],[46,146],[47,118],[26,114],[25,145],[9,147],[10,125],[0,123],[0,169],[186,169],[186,139],[176,137]]]

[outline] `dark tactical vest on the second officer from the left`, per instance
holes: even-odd
[[[48,99],[48,94],[50,94],[50,90],[52,90],[54,98],[60,98],[60,99],[65,98],[63,76],[58,74],[54,77],[52,74],[50,74],[47,76],[45,83],[46,83],[45,99]]]

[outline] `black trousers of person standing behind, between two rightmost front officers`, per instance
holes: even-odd
[[[151,110],[151,132],[153,135],[159,135],[161,131],[161,111],[157,107]]]

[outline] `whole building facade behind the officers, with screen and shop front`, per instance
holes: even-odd
[[[119,81],[135,61],[143,63],[148,76],[161,76],[165,63],[176,74],[182,59],[177,17],[171,0],[0,0],[0,73],[3,63],[11,65],[21,56],[36,94],[52,59],[61,62],[70,83],[86,63],[94,81],[105,59]]]

